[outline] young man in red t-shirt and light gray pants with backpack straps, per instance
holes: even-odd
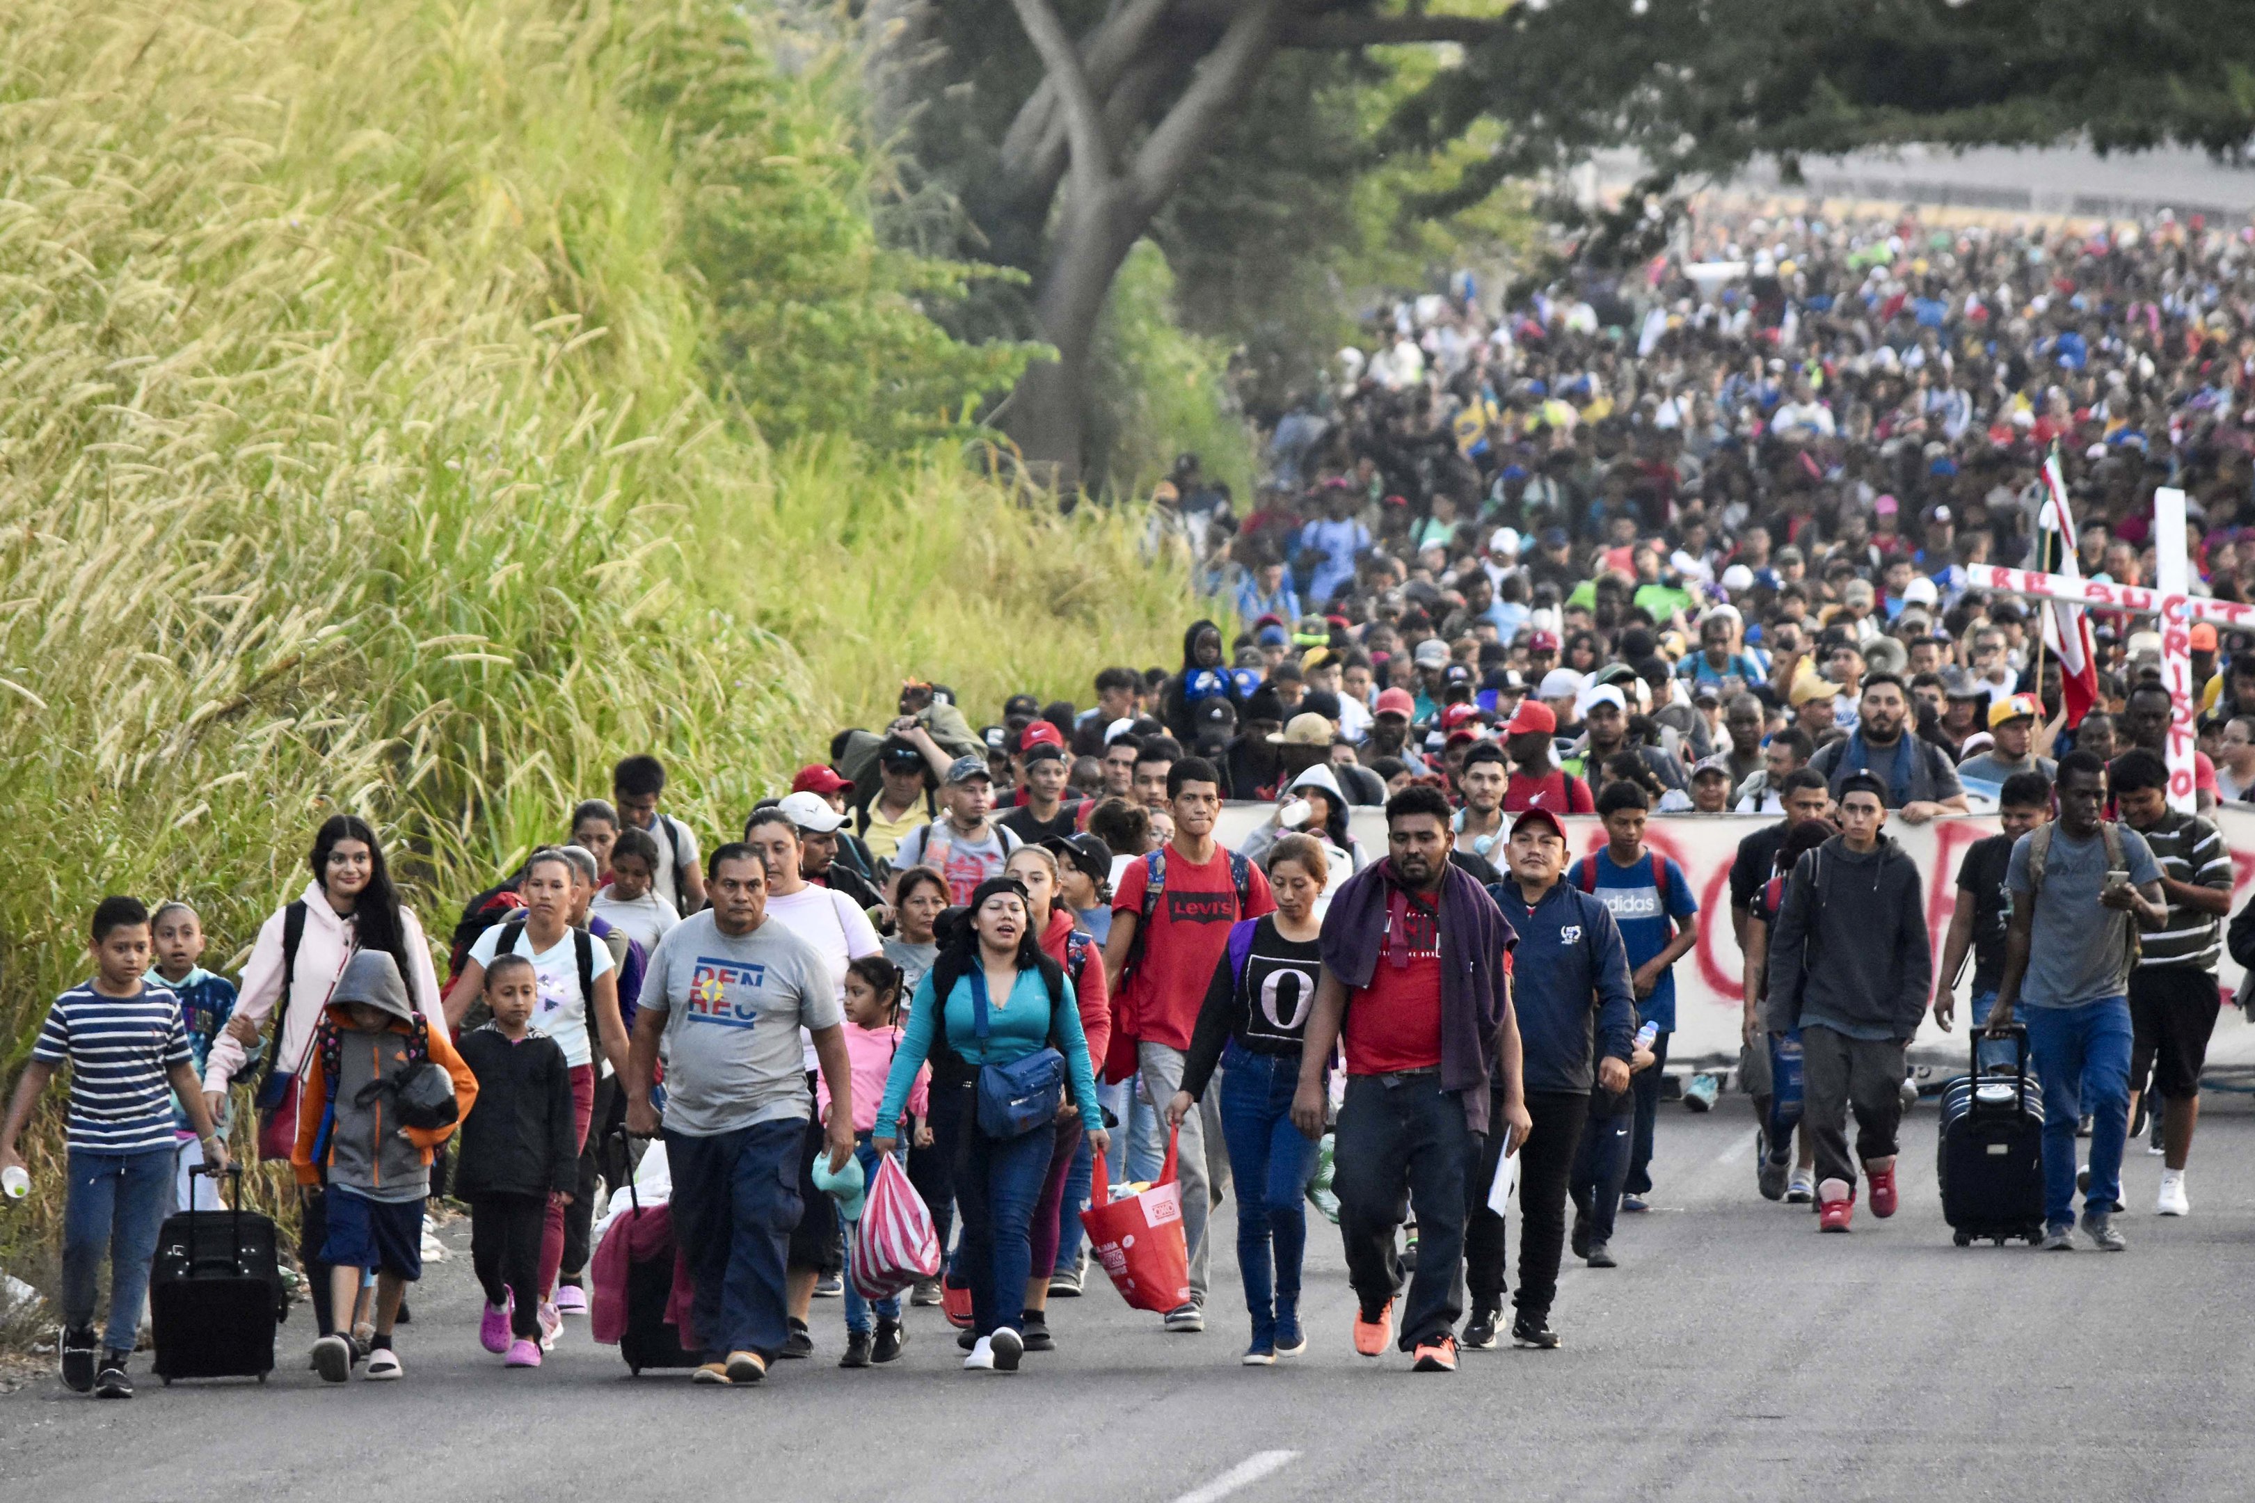
[[[1152,1101],[1173,1101],[1182,1090],[1182,1061],[1213,968],[1229,948],[1229,925],[1276,909],[1261,867],[1213,840],[1213,821],[1222,812],[1222,774],[1213,763],[1186,756],[1168,767],[1166,799],[1175,840],[1121,876],[1105,939],[1105,979],[1118,997],[1114,1027],[1137,1040],[1137,1070]],[[1152,867],[1157,894],[1150,891]],[[1191,1302],[1166,1313],[1166,1329],[1202,1331],[1213,1185],[1200,1113],[1182,1119],[1175,1174],[1182,1183],[1182,1232],[1191,1246]]]

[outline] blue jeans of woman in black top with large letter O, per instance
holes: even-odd
[[[1254,1341],[1274,1341],[1276,1316],[1299,1309],[1299,1268],[1308,1252],[1301,1196],[1315,1176],[1315,1144],[1292,1126],[1297,1054],[1254,1054],[1229,1040],[1222,1052],[1222,1142],[1238,1187],[1238,1273]],[[1274,1250],[1274,1282],[1270,1252]]]

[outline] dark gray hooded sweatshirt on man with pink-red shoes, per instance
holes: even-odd
[[[1770,925],[1772,1034],[1818,1025],[1865,1040],[1908,1040],[1933,993],[1919,867],[1890,837],[1869,851],[1833,835],[1802,855]]]

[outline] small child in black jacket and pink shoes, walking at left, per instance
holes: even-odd
[[[523,955],[485,968],[492,1022],[456,1045],[478,1076],[462,1119],[456,1194],[469,1201],[469,1262],[485,1286],[478,1341],[510,1368],[541,1365],[541,1230],[548,1205],[571,1205],[580,1180],[571,1063],[532,1027],[539,975]]]

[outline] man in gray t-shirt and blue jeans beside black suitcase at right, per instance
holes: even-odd
[[[2084,1234],[2120,1252],[2113,1205],[2129,1128],[2129,925],[2160,928],[2167,909],[2145,837],[2099,824],[2106,763],[2068,751],[2059,758],[2057,794],[2059,819],[2014,842],[2005,867],[2011,918],[1989,1034],[2007,1036],[2018,1011],[2043,1081],[2043,1246],[2061,1252],[2075,1246],[2075,1128],[2090,1113]],[[2020,1000],[2025,1009],[2016,1007]]]

